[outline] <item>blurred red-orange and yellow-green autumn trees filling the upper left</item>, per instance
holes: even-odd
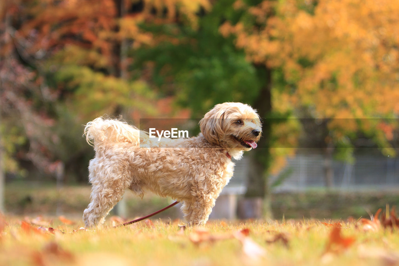
[[[168,6],[168,14],[164,14]],[[153,42],[138,23],[179,19],[196,23],[206,0],[48,0],[1,3],[2,139],[7,158],[29,147],[39,169],[61,160],[70,175],[86,180],[92,151],[81,125],[96,116],[125,119],[165,111],[159,97],[126,66],[130,46]],[[4,60],[3,60],[4,59]],[[18,112],[13,113],[15,110]],[[18,121],[13,123],[12,121]],[[7,132],[4,132],[7,130]],[[20,136],[20,137],[18,137]],[[27,136],[24,137],[24,136]],[[22,146],[22,147],[18,147]],[[26,154],[26,151],[18,153]],[[20,161],[20,159],[18,159]],[[15,162],[15,160],[13,161]],[[17,167],[5,164],[9,173]]]

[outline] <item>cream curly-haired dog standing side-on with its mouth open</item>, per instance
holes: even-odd
[[[145,190],[183,202],[189,225],[205,224],[223,187],[233,176],[234,159],[256,148],[259,115],[243,103],[221,103],[199,122],[201,133],[188,139],[149,138],[127,123],[99,117],[87,123],[94,144],[89,164],[91,202],[83,212],[87,227],[104,222],[126,188],[141,198]]]

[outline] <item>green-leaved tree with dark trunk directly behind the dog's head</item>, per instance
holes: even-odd
[[[237,8],[230,0],[213,4],[211,10],[199,14],[197,27],[181,23],[142,25],[142,28],[160,36],[161,42],[134,50],[136,65],[147,67],[148,79],[166,95],[176,95],[178,102],[200,117],[216,103],[241,101],[253,105],[263,117],[263,138],[254,155],[247,197],[265,197],[266,177],[284,164],[292,154],[298,124],[279,123],[290,117],[290,108],[284,105],[272,112],[272,100],[279,101],[281,93],[272,90],[272,71],[263,62],[250,60],[245,49],[237,49],[235,37],[220,28],[223,21],[247,21],[255,18],[246,10]],[[147,62],[146,64],[144,62]],[[281,72],[281,71],[280,71]],[[272,127],[279,135],[274,135]],[[278,144],[287,149],[271,149]],[[270,168],[271,161],[276,164]],[[255,211],[259,213],[259,211]]]

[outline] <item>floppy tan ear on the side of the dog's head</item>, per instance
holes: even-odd
[[[216,105],[199,121],[202,135],[213,145],[219,145],[220,136],[224,134],[224,116],[225,110]]]

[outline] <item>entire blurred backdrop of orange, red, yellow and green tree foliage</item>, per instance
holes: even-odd
[[[354,162],[359,137],[394,156],[398,12],[387,0],[2,1],[0,171],[84,183],[93,117],[198,118],[224,101],[271,105],[262,180],[294,155],[302,118],[325,125],[338,159]]]

